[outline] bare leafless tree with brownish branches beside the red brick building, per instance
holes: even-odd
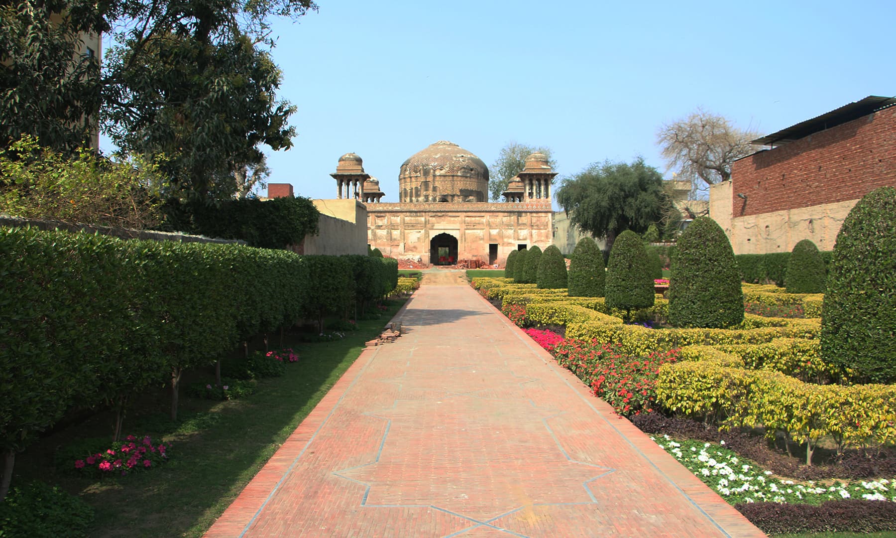
[[[697,108],[690,116],[661,126],[657,143],[668,169],[694,188],[731,178],[731,163],[754,152],[750,142],[759,134],[741,131],[728,119]],[[704,187],[705,188],[705,187]]]

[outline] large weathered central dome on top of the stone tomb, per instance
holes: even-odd
[[[488,167],[456,143],[440,140],[401,163],[401,202],[486,202]]]

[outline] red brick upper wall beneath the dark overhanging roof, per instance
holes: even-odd
[[[896,186],[896,107],[736,161],[731,183],[734,218],[855,200]]]

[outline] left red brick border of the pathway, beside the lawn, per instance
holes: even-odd
[[[392,322],[401,321],[405,310],[413,302],[414,296],[399,308],[385,325]],[[388,345],[388,344],[385,344]],[[209,538],[217,537],[234,537],[246,534],[246,531],[254,523],[255,518],[261,513],[267,502],[273,497],[280,487],[280,483],[289,474],[293,465],[305,453],[306,448],[314,440],[314,436],[323,427],[327,419],[330,418],[333,410],[336,409],[340,400],[348,394],[351,386],[355,384],[358,377],[364,372],[367,366],[374,360],[380,346],[368,347],[361,351],[358,359],[349,366],[339,380],[323,395],[321,401],[314,406],[314,409],[308,413],[303,421],[299,423],[296,430],[293,431],[280,448],[271,456],[271,459],[263,465],[262,470],[246,484],[246,487],[239,492],[237,499],[224,510],[224,513],[215,520],[211,528],[204,534]]]

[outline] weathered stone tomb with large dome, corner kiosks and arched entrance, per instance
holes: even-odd
[[[352,163],[360,166],[355,157]],[[556,176],[545,162],[540,153],[530,155],[521,178],[512,182],[519,192],[505,196],[513,202],[488,203],[485,163],[457,144],[431,144],[401,165],[400,203],[379,203],[378,183],[375,197],[366,193],[370,182],[356,194],[367,202],[367,241],[383,256],[434,265],[467,259],[504,265],[513,250],[544,249],[553,242],[549,185]],[[333,177],[344,185],[340,170]]]

